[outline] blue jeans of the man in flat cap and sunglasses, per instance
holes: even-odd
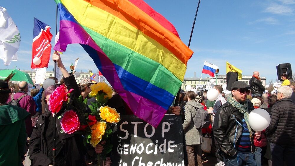
[[[239,153],[234,157],[223,157],[225,166],[256,166],[254,153]]]

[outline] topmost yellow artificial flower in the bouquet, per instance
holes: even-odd
[[[90,89],[91,92],[89,93],[89,95],[91,97],[96,96],[99,91],[106,93],[106,95],[104,95],[104,99],[106,97],[109,97],[109,99],[113,97],[113,89],[105,82],[98,82],[96,84],[92,84],[90,85]]]

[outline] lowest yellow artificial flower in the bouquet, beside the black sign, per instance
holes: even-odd
[[[91,140],[90,144],[93,147],[101,141],[104,132],[106,131],[106,122],[96,122],[93,126],[91,126]]]

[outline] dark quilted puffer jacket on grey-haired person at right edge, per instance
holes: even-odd
[[[289,98],[271,107],[271,123],[266,128],[267,141],[295,146],[295,104]]]

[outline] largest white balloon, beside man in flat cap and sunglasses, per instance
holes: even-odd
[[[271,116],[262,108],[254,109],[249,114],[249,125],[254,131],[263,131],[269,123],[271,123]]]

